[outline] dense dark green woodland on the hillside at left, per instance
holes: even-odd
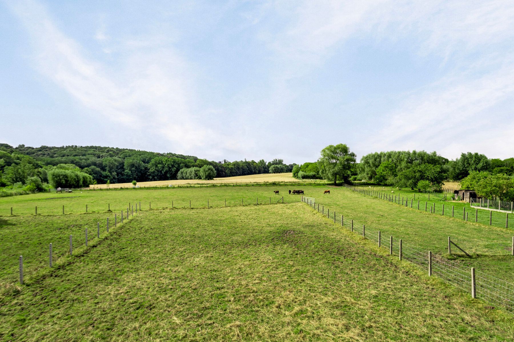
[[[0,144],[0,187],[42,191],[90,184],[147,180],[212,179],[269,172],[290,172],[282,159],[213,162],[196,156],[102,146],[41,146]],[[38,178],[38,179],[36,179]]]

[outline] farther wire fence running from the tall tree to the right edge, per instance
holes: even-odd
[[[509,211],[499,211],[490,209],[489,212],[479,212],[480,207],[477,207],[476,204],[473,206],[471,203],[470,207],[466,207],[465,204],[455,203],[455,202],[447,202],[446,197],[444,195],[440,195],[440,197],[436,197],[438,200],[434,202],[433,200],[421,200],[419,199],[419,195],[416,198],[416,195],[413,194],[412,197],[408,197],[405,195],[395,194],[395,193],[387,193],[383,191],[377,191],[373,189],[365,189],[359,188],[355,186],[350,186],[343,184],[344,187],[350,189],[354,192],[372,196],[378,199],[386,200],[387,202],[396,203],[400,206],[417,209],[421,211],[430,212],[436,215],[443,215],[448,217],[461,218],[466,222],[476,222],[482,223],[484,225],[495,226],[495,227],[505,227],[505,228],[514,228],[514,223],[512,223],[511,215],[512,212]],[[433,198],[433,196],[432,196]],[[483,201],[484,202],[484,201]],[[487,200],[486,200],[487,202]],[[493,203],[493,204],[491,204]],[[503,202],[505,205],[508,205],[509,209],[512,207],[511,202]],[[498,201],[491,201],[490,206],[498,208]],[[500,205],[501,207],[502,205]],[[487,207],[487,204],[485,205]],[[484,208],[484,204],[483,207]]]

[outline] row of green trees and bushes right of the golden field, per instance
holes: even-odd
[[[467,152],[449,160],[435,151],[414,150],[369,153],[357,163],[355,154],[346,145],[338,144],[324,148],[317,162],[293,167],[292,175],[299,179],[323,178],[335,184],[364,180],[419,191],[437,191],[446,180],[458,182],[471,175],[475,178],[480,175],[480,184],[463,181],[462,186],[470,190],[476,188],[484,196],[492,196],[489,198],[510,198],[506,190],[494,192],[490,189],[512,188],[514,158],[489,159],[484,154]]]

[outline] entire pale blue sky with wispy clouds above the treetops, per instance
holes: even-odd
[[[2,142],[514,156],[514,2],[0,0]]]

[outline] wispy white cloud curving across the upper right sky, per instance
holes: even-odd
[[[513,2],[306,1],[285,12],[290,14],[285,27],[278,34],[262,35],[279,61],[277,78],[303,77],[350,39],[369,42],[370,37],[377,45],[409,39],[421,60],[438,55],[449,64],[449,71],[433,84],[396,95],[396,108],[383,113],[382,128],[374,129],[364,143],[368,152],[512,154],[512,111],[502,104],[514,98]],[[465,138],[470,130],[480,138]]]

